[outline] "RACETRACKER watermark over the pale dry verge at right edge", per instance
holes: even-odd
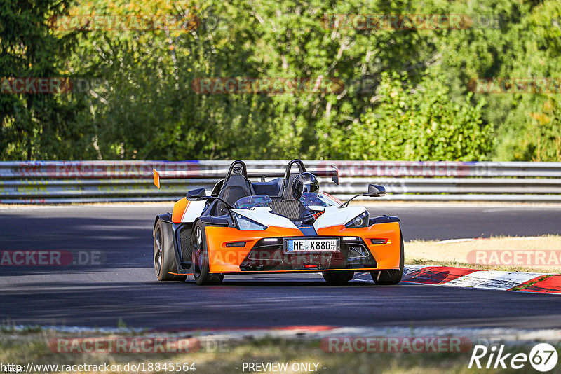
[[[561,250],[475,249],[467,260],[472,265],[561,266]]]

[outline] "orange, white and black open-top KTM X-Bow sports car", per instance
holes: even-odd
[[[223,175],[154,169],[154,184]],[[218,284],[230,274],[321,272],[329,284],[346,284],[354,272],[370,271],[375,284],[399,283],[404,258],[399,219],[370,218],[365,207],[320,191],[318,176],[339,184],[334,167],[306,171],[301,160],[290,161],[283,171],[261,172],[232,162],[210,195],[205,188],[188,191],[171,213],[156,216],[156,277],[193,275],[197,284]],[[255,178],[260,181],[250,181]],[[367,193],[354,198],[385,193],[370,184]]]

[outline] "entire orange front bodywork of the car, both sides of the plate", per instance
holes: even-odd
[[[174,209],[175,210],[175,209]],[[269,226],[266,230],[238,230],[229,227],[208,226],[205,228],[210,272],[242,272],[240,265],[248,256],[255,242],[264,237],[299,237],[302,231],[293,228]],[[321,236],[356,236],[366,242],[378,269],[396,269],[400,263],[399,223],[379,223],[368,228],[346,228],[331,226],[318,230]],[[370,239],[387,239],[385,244],[372,244]],[[229,242],[245,242],[244,247],[226,247]],[[357,269],[365,270],[365,269]],[[271,270],[271,272],[307,272],[318,270]],[[251,273],[251,272],[248,272]]]

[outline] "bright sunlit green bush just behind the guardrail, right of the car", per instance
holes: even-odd
[[[383,74],[377,105],[349,129],[344,141],[356,160],[485,160],[492,127],[483,125],[476,106],[450,102],[442,83],[424,78],[411,87]]]

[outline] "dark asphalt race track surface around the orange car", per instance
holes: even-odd
[[[151,227],[163,205],[0,208],[0,250],[82,251],[95,263],[0,266],[0,320],[15,324],[245,328],[561,324],[561,296],[402,283],[327,286],[320,275],[156,282]],[[396,205],[405,240],[559,233],[561,207]],[[407,251],[407,247],[405,248]]]

